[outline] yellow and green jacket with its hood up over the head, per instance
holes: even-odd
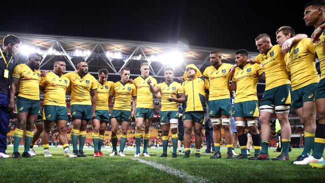
[[[193,80],[189,80],[187,77],[187,68],[194,68],[196,75]],[[188,64],[183,74],[185,80],[182,82],[183,90],[185,93],[185,102],[183,103],[183,109],[187,111],[205,111],[205,90],[207,86],[205,82],[207,79],[201,77],[201,72],[194,64]]]

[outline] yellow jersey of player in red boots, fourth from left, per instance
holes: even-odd
[[[111,87],[114,85],[112,81],[105,81],[101,84],[98,80],[97,82],[97,100],[96,100],[96,110],[108,110],[108,96]]]

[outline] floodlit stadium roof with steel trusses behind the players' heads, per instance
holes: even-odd
[[[67,60],[67,71],[75,70],[76,62],[85,59],[88,72],[96,75],[99,68],[107,68],[109,79],[120,79],[122,67],[131,68],[131,76],[140,75],[141,62],[150,64],[150,75],[163,79],[163,68],[166,65],[175,67],[174,76],[183,74],[185,66],[194,63],[204,70],[209,66],[209,52],[216,47],[186,45],[180,41],[173,43],[145,42],[136,40],[119,40],[98,37],[80,37],[47,34],[14,33],[22,44],[17,53],[19,62],[25,61],[28,53],[37,51],[42,55],[40,69],[52,70],[53,60],[61,56]],[[2,38],[8,32],[0,32]],[[216,48],[221,51],[222,61],[234,63],[234,49]],[[256,56],[257,52],[248,52]]]

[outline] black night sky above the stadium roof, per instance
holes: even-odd
[[[254,38],[289,25],[311,35],[305,0],[1,2],[0,31],[105,37],[257,51]]]

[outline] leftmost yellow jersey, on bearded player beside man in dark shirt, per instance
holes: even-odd
[[[18,96],[39,100],[39,70],[32,70],[27,64],[21,63],[13,68],[11,76],[19,79]]]

